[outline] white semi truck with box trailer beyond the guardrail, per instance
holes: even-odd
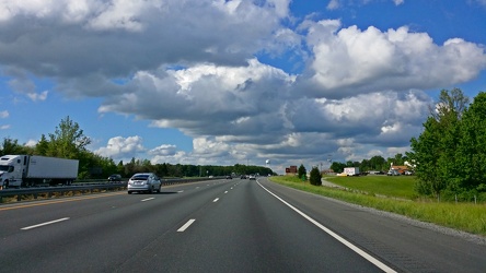
[[[38,155],[0,157],[0,188],[70,185],[78,177],[79,161]]]

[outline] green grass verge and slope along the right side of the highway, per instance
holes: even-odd
[[[350,182],[345,181],[346,179],[340,180],[342,178],[345,177],[339,177],[339,183],[335,179],[329,179],[328,181],[349,188],[349,190],[316,187],[310,185],[309,182],[302,182],[294,177],[279,176],[271,177],[270,180],[298,190],[321,194],[362,206],[373,207],[380,211],[401,214],[409,218],[433,223],[471,234],[486,236],[486,204],[438,203],[433,200],[414,201],[410,199],[413,193],[403,193],[407,192],[407,190],[396,190],[397,192],[402,192],[396,197],[391,194],[394,190],[386,189],[387,187],[384,186],[377,187],[371,185],[370,188],[366,188],[366,183],[372,183],[372,179],[369,179],[363,183],[359,183],[359,187],[355,188],[355,185],[359,182],[358,179],[364,177],[349,177],[351,180],[355,179]],[[325,179],[328,179],[328,177],[325,177]],[[410,179],[410,181],[413,180]],[[387,192],[387,194],[384,194],[384,192]],[[377,193],[386,195],[389,198],[377,197]],[[407,195],[410,198],[407,199]]]

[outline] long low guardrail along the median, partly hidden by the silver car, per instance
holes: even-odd
[[[173,178],[173,179],[161,179],[162,186],[177,185],[177,183],[188,183],[188,182],[200,182],[207,180],[221,179],[220,177],[215,178]],[[3,189],[0,190],[0,203],[3,203],[3,199],[11,197],[16,199],[16,201],[22,201],[26,197],[28,199],[36,200],[40,194],[46,194],[46,198],[53,198],[54,195],[66,195],[68,192],[81,192],[93,193],[93,191],[106,191],[106,190],[125,190],[127,188],[127,181],[121,182],[107,182],[106,180],[83,180],[74,181],[71,186],[58,186],[58,187],[34,187],[34,188],[20,188],[20,189]],[[57,193],[57,194],[56,194]],[[16,198],[15,198],[16,197]]]

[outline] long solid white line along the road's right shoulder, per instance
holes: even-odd
[[[352,245],[351,242],[347,241],[345,238],[340,237],[339,235],[335,234],[333,230],[328,229],[327,227],[325,227],[324,225],[322,225],[321,223],[319,223],[317,221],[311,218],[310,216],[308,216],[305,213],[299,211],[297,207],[294,207],[293,205],[287,203],[287,201],[285,201],[284,199],[279,198],[277,194],[275,194],[274,192],[269,191],[267,188],[265,188],[263,185],[261,185],[258,181],[257,183],[259,185],[259,187],[262,187],[264,190],[266,190],[268,193],[270,193],[271,195],[274,195],[276,199],[278,199],[280,202],[282,202],[284,204],[286,204],[287,206],[289,206],[290,209],[292,209],[293,211],[296,211],[297,213],[299,213],[302,217],[304,217],[305,219],[308,219],[309,222],[311,222],[312,224],[314,224],[315,226],[317,226],[319,228],[321,228],[322,230],[324,230],[326,234],[331,235],[333,238],[335,238],[336,240],[338,240],[340,244],[345,245],[346,247],[348,247],[349,249],[351,249],[352,251],[355,251],[356,253],[358,253],[359,256],[361,256],[362,258],[364,258],[366,260],[368,260],[369,262],[371,262],[372,264],[377,265],[377,268],[383,270],[384,272],[394,272],[396,273],[396,271],[394,271],[393,269],[389,268],[386,264],[382,263],[381,261],[377,260],[374,257],[368,254],[367,252],[364,252],[363,250],[361,250],[360,248],[358,248],[357,246]]]

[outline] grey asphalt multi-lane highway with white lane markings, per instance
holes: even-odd
[[[258,178],[0,205],[0,272],[486,272],[486,246]]]

